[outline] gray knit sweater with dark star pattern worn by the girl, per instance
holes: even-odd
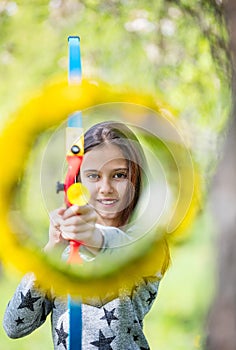
[[[127,240],[127,235],[116,228],[104,228],[103,233],[103,251],[114,242]],[[143,333],[143,319],[156,298],[159,281],[159,275],[146,277],[128,296],[82,304],[82,350],[150,349]],[[40,291],[36,283],[32,273],[23,277],[6,308],[4,329],[9,337],[20,338],[40,327],[51,314],[54,349],[69,349],[67,300]]]

